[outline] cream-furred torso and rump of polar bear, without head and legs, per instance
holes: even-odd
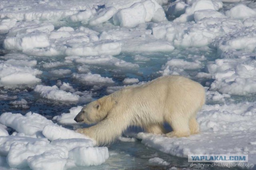
[[[204,87],[182,76],[162,76],[118,93],[119,101],[128,105],[131,113],[144,114],[157,122],[173,114],[194,116],[205,102]]]

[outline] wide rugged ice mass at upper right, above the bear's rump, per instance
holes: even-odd
[[[155,38],[167,40],[175,47],[202,47],[218,40],[216,37],[231,34],[243,26],[240,20],[207,18],[197,23],[158,23],[152,27],[152,32]]]

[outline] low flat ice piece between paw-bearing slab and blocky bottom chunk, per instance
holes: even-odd
[[[68,151],[76,148],[76,147],[93,147],[94,144],[91,140],[89,139],[57,139],[51,142],[51,145],[57,145],[57,146],[62,146],[66,147]]]

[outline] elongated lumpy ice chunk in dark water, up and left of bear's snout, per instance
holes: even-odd
[[[38,92],[42,98],[46,98],[50,100],[76,102],[80,98],[80,96],[76,94],[59,90],[59,88],[56,85],[54,86],[36,85],[36,87],[34,88],[34,91]]]

